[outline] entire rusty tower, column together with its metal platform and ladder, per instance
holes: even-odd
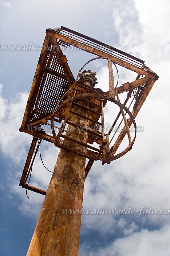
[[[62,52],[68,47],[96,56],[79,70],[76,79]],[[108,62],[109,83],[105,92],[94,87],[95,73],[83,70],[96,59]],[[117,77],[118,67],[122,66],[136,73],[136,79],[121,86],[117,79],[115,85],[112,65]],[[46,30],[20,128],[21,132],[32,135],[33,140],[19,185],[46,195],[27,255],[78,255],[84,180],[94,161],[109,164],[131,150],[137,127],[134,119],[157,79],[157,74],[144,61],[112,46],[66,27]],[[119,99],[122,93],[126,95],[123,103]],[[105,133],[104,106],[108,101],[112,102],[113,109],[117,105],[119,111]],[[112,136],[112,131],[120,127],[122,121],[124,127],[116,138],[116,132]],[[51,125],[52,135],[43,129],[47,123]],[[133,139],[129,129],[132,124]],[[127,147],[117,153],[126,134]],[[47,191],[28,182],[41,140],[61,149]],[[63,209],[79,211],[64,214]]]

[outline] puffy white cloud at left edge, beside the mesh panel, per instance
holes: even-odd
[[[18,164],[25,158],[26,147],[31,142],[31,136],[26,136],[26,134],[19,132],[27,98],[28,94],[26,93],[18,93],[15,100],[12,100],[11,102],[3,99],[2,96],[0,97],[1,150]]]

